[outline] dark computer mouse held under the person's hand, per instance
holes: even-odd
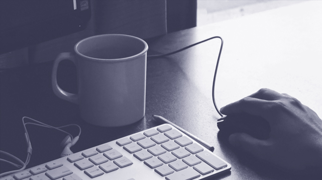
[[[229,114],[224,120],[217,122],[222,134],[230,135],[235,132],[245,132],[258,139],[268,139],[271,131],[268,121],[246,112]]]

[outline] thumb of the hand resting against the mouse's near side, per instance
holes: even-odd
[[[257,139],[247,133],[233,133],[229,136],[229,142],[234,147],[264,159],[267,155],[267,140]]]

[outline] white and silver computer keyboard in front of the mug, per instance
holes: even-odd
[[[187,180],[216,176],[231,164],[170,124],[162,124],[0,180]]]

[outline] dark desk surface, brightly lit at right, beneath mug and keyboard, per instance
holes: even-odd
[[[320,1],[307,1],[170,33],[149,40],[149,53],[169,52],[220,35],[224,49],[216,84],[219,107],[268,87],[297,97],[322,117],[320,9]],[[230,173],[215,179],[296,179],[239,156],[218,139],[220,116],[211,101],[211,83],[219,47],[220,40],[211,40],[168,57],[148,59],[146,116],[118,128],[87,124],[80,119],[76,105],[56,97],[50,86],[52,63],[2,72],[1,149],[25,159],[24,115],[57,126],[79,124],[82,134],[71,148],[76,152],[155,126],[151,117],[157,114],[214,145],[214,153],[232,164]],[[72,80],[68,78],[65,80]],[[58,158],[64,134],[29,129],[34,149],[30,166]],[[6,170],[1,164],[1,171]]]

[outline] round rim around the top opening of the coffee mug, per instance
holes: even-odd
[[[132,38],[135,38],[135,39],[140,40],[141,42],[143,42],[144,43],[144,49],[141,52],[139,52],[139,53],[137,53],[135,55],[128,56],[128,57],[123,57],[123,58],[96,58],[96,57],[90,57],[90,56],[87,56],[87,55],[84,55],[84,54],[80,53],[77,50],[78,45],[80,43],[82,43],[83,41],[86,41],[86,40],[88,40],[90,38],[97,38],[97,37],[102,37],[102,36],[127,36],[127,37],[132,37]],[[132,59],[134,57],[138,57],[138,56],[141,56],[141,55],[145,54],[148,51],[148,48],[149,47],[148,47],[148,44],[147,44],[146,41],[144,41],[143,39],[141,39],[139,37],[133,36],[133,35],[127,35],[127,34],[100,34],[100,35],[89,36],[89,37],[86,37],[86,38],[78,41],[74,46],[74,51],[78,55],[80,55],[82,57],[85,57],[86,59],[89,59],[89,60],[95,60],[95,61],[124,61],[124,60],[130,60],[130,59]]]

